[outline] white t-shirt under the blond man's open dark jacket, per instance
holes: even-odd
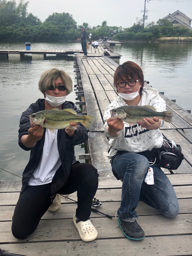
[[[28,185],[36,186],[52,182],[56,170],[61,165],[57,147],[57,132],[58,130],[55,130],[54,133],[51,133],[49,129],[46,129],[42,156]]]

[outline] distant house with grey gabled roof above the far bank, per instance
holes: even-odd
[[[163,19],[169,20],[169,22],[173,23],[174,26],[180,26],[192,30],[192,28],[190,27],[190,22],[192,21],[192,19],[187,17],[179,10],[172,14],[169,13]]]

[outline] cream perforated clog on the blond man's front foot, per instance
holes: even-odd
[[[91,223],[90,219],[81,221],[77,219],[76,215],[73,216],[73,224],[79,232],[79,236],[84,242],[90,242],[97,238],[98,232]]]

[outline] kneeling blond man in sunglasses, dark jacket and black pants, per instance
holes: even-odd
[[[31,127],[29,120],[33,113],[54,108],[73,109],[82,115],[73,102],[66,101],[73,90],[71,77],[65,71],[50,69],[42,73],[38,87],[45,98],[32,103],[20,117],[18,144],[31,152],[13,214],[13,236],[26,239],[35,231],[47,210],[57,211],[60,208],[60,194],[77,191],[73,223],[83,241],[93,241],[97,238],[97,230],[90,221],[90,215],[98,173],[93,165],[76,161],[74,155],[74,146],[88,140],[86,127],[72,122],[70,125],[76,130],[66,128],[52,133],[39,125]],[[84,231],[85,225],[88,232]]]

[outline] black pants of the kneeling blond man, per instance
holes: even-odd
[[[87,163],[74,164],[68,183],[57,194],[68,195],[77,191],[76,217],[86,221],[91,215],[92,200],[98,186],[95,167]],[[51,205],[51,183],[27,186],[20,194],[12,218],[12,233],[17,239],[25,239],[37,228],[41,217]],[[63,216],[65,218],[65,216]]]

